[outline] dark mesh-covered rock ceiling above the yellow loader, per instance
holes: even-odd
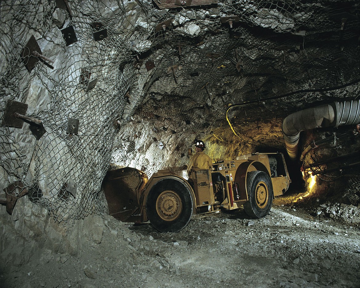
[[[160,12],[163,29],[134,45],[155,66],[135,113],[205,126],[225,116],[264,122],[359,94],[355,2],[219,1]]]

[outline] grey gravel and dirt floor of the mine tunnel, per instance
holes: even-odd
[[[1,287],[360,287],[359,208],[329,218],[281,203],[262,219],[194,215],[178,233],[106,216],[101,243],[76,256],[39,250],[4,267]]]

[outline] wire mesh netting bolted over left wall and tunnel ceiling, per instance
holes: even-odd
[[[306,90],[360,81],[356,1],[161,2],[0,3],[3,121],[15,100],[46,131],[37,139],[32,122],[1,125],[3,182],[21,181],[59,222],[106,210],[100,185],[117,131],[133,115],[210,125],[226,120],[229,104],[270,109],[283,98],[277,108],[294,107]]]

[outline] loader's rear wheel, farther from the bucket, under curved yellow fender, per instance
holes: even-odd
[[[269,214],[274,199],[273,183],[269,175],[262,171],[249,172],[246,188],[249,198],[243,205],[246,214],[252,218],[261,218]]]

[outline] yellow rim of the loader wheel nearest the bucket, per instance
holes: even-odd
[[[181,214],[183,204],[174,191],[163,191],[156,199],[156,212],[162,220],[173,221]]]

